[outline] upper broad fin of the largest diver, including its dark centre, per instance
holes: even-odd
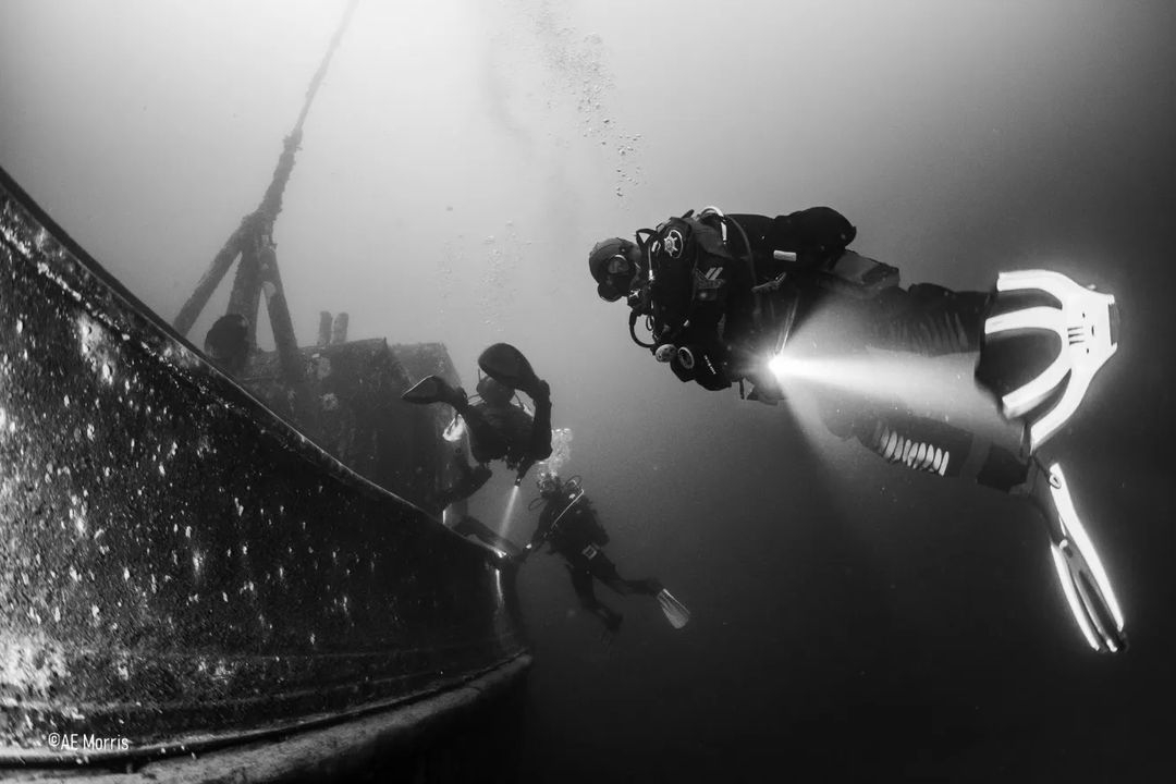
[[[1114,296],[1061,273],[1001,273],[976,380],[997,396],[1005,418],[1024,420],[1024,453],[1033,455],[1077,410],[1117,348]],[[1043,355],[1044,369],[1034,367]]]

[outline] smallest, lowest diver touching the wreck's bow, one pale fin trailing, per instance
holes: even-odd
[[[584,496],[579,477],[563,482],[553,471],[543,471],[536,482],[539,498],[532,507],[543,504],[539,514],[539,525],[523,552],[515,559],[522,563],[534,550],[546,542],[550,552],[557,552],[572,575],[572,588],[584,609],[595,614],[604,623],[604,639],[608,641],[621,628],[620,612],[596,598],[593,579],[599,579],[621,596],[642,594],[655,596],[666,619],[675,629],[681,629],[690,619],[690,611],[656,578],[624,579],[601,549],[608,544],[608,532],[596,516],[592,502]]]

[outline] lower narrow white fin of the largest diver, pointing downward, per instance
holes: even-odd
[[[1087,642],[1100,652],[1125,650],[1123,614],[1095,545],[1074,509],[1062,468],[1054,463],[1047,469],[1034,460],[1020,492],[1029,497],[1044,518],[1057,579]]]

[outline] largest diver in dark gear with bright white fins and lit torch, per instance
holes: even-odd
[[[708,207],[640,229],[633,241],[597,242],[588,267],[601,299],[626,299],[633,341],[681,381],[739,384],[741,396],[768,404],[783,398],[789,337],[816,314],[831,316],[838,353],[976,354],[976,382],[1021,424],[1016,453],[916,416],[901,400],[824,395],[822,420],[889,462],[1028,497],[1083,636],[1095,650],[1123,650],[1122,614],[1061,467],[1037,455],[1117,348],[1115,299],[1047,270],[1001,273],[990,293],[903,288],[895,267],[848,248],[856,234],[829,207],[775,217]],[[648,340],[636,333],[642,319]]]

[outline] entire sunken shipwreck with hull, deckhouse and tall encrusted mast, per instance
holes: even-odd
[[[510,776],[516,569],[441,523],[446,422],[400,401],[426,373],[456,383],[448,354],[348,341],[345,314],[300,348],[279,274],[354,7],[172,324],[0,170],[0,776]],[[228,368],[187,334],[234,263],[248,350]]]

